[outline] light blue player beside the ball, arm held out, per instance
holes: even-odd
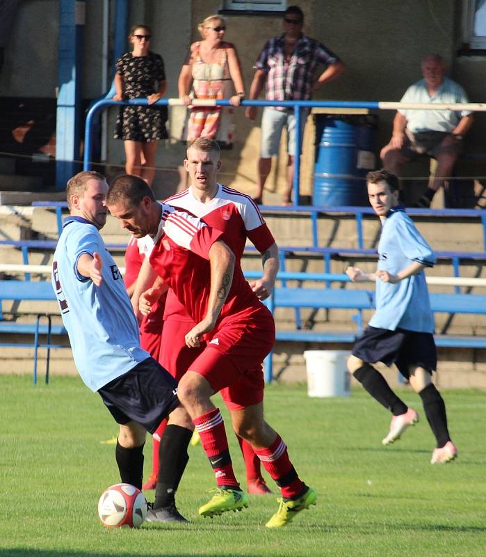
[[[122,482],[141,489],[145,432],[153,433],[169,416],[188,442],[193,425],[179,404],[175,379],[140,347],[120,270],[99,234],[108,214],[107,192],[97,172],[81,172],[67,182],[70,217],[54,253],[52,285],[79,375],[120,424],[115,456]],[[160,483],[147,520],[187,522],[173,498],[158,505],[164,491],[175,494],[188,461],[186,447],[175,442],[170,454],[161,455]]]

